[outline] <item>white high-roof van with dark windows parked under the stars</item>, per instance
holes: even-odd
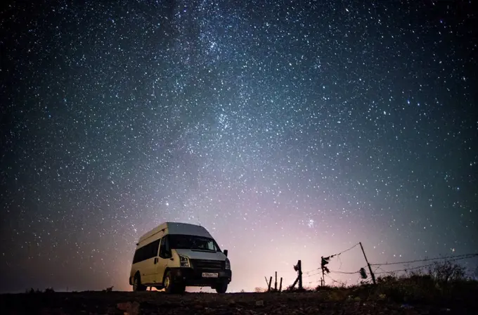
[[[136,244],[129,276],[134,291],[183,293],[186,286],[208,286],[225,293],[230,282],[227,250],[221,251],[203,226],[165,222]]]

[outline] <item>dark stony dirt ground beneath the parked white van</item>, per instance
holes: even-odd
[[[0,295],[0,314],[478,314],[460,304],[437,306],[364,301],[330,301],[309,293],[82,292]]]

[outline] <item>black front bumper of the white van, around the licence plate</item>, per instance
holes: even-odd
[[[217,283],[230,283],[232,279],[232,272],[230,269],[202,270],[193,268],[172,268],[169,270],[172,273],[174,281],[190,286],[211,286]],[[205,278],[202,276],[203,272],[218,274],[218,277]]]

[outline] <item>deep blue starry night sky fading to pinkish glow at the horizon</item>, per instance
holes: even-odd
[[[410,2],[4,5],[0,291],[131,290],[163,221],[230,291],[477,252],[477,13]]]

